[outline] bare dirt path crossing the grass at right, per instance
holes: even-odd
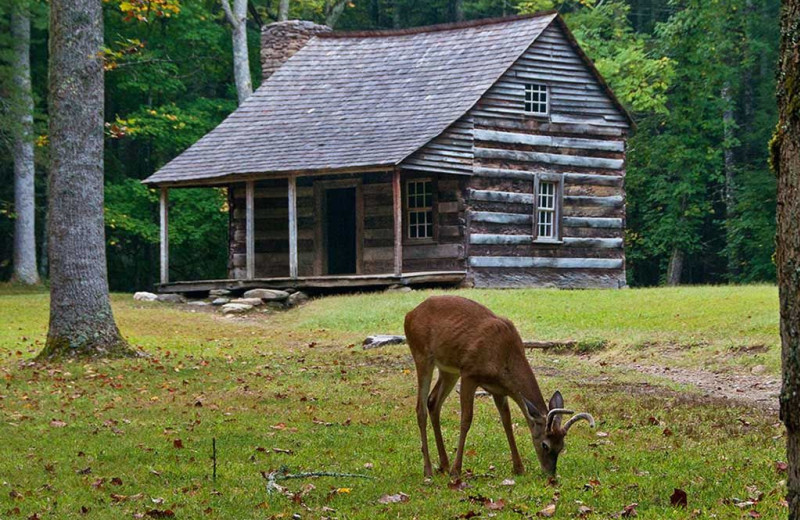
[[[777,415],[780,378],[769,375],[714,373],[688,368],[669,368],[653,365],[617,365],[620,368],[663,377],[676,383],[693,385],[705,395],[728,399],[737,404],[753,406]]]

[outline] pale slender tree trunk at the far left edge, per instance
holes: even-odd
[[[14,41],[14,274],[13,280],[39,283],[36,270],[36,213],[33,164],[33,95],[31,93],[31,20],[26,2],[12,7]]]

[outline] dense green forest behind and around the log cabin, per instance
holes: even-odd
[[[11,277],[12,10],[0,0],[0,280]],[[226,1],[226,0],[225,0]],[[285,0],[283,0],[285,1]],[[30,0],[36,248],[47,273],[47,3]],[[250,0],[251,76],[279,0]],[[336,30],[404,28],[558,9],[637,129],[628,143],[626,258],[635,286],[775,280],[779,0],[291,0]],[[158,194],[140,181],[236,108],[220,0],[105,0],[105,223],[112,290],[158,278]],[[243,151],[244,153],[244,151]],[[226,195],[173,190],[173,279],[224,277]]]

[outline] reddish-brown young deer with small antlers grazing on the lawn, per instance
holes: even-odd
[[[458,296],[433,296],[406,315],[405,331],[417,367],[417,423],[426,477],[432,474],[427,435],[429,412],[439,451],[439,469],[447,472],[449,467],[439,417],[442,403],[459,377],[461,434],[450,471],[453,477],[461,474],[464,442],[472,424],[478,387],[494,397],[511,448],[514,473],[524,473],[525,468],[514,442],[509,397],[525,415],[539,464],[551,475],[556,472],[558,454],[564,448],[564,437],[570,427],[581,419],[594,427],[594,418],[588,413],[576,414],[561,426],[561,416],[574,412],[564,409],[564,399],[558,391],[545,404],[514,324],[483,305]],[[429,395],[434,368],[439,369],[439,379]]]

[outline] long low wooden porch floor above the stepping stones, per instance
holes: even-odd
[[[455,285],[467,277],[466,271],[426,271],[419,273],[300,276],[298,278],[253,278],[251,280],[196,280],[158,284],[160,293],[192,293],[213,289],[231,291],[264,289],[351,289],[381,288],[391,285]]]

